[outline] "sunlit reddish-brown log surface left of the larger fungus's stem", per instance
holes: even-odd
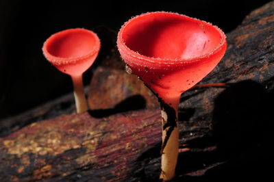
[[[1,181],[122,180],[142,150],[160,143],[160,110],[34,122],[0,140]],[[145,149],[147,148],[147,149]],[[160,151],[158,151],[160,155]]]

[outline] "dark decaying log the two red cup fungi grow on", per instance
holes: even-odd
[[[192,88],[182,95],[180,153],[173,181],[263,181],[270,176],[273,12],[274,1],[251,12],[227,34],[225,57],[201,81],[222,84]],[[97,68],[97,74],[106,69]],[[120,74],[108,73],[101,81]],[[93,78],[92,84],[100,83],[99,76]],[[110,94],[92,92],[105,94],[104,99]],[[140,90],[121,93],[147,99],[147,92]],[[125,112],[129,109],[121,109],[123,99],[119,96],[84,114],[33,122],[1,138],[0,181],[158,181],[160,109],[136,107],[139,110]]]

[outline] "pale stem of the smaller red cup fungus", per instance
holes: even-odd
[[[88,105],[86,103],[86,96],[84,92],[83,85],[83,76],[81,75],[72,75],[71,79],[73,80],[74,88],[74,98],[77,113],[86,112],[88,110]]]

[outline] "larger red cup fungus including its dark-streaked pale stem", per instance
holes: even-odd
[[[196,18],[149,12],[121,27],[117,45],[127,66],[160,100],[163,119],[160,178],[172,179],[179,147],[179,98],[219,63],[227,46],[225,34]]]

